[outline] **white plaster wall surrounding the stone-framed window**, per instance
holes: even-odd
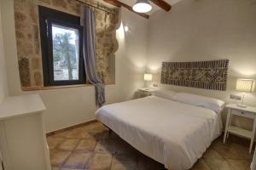
[[[125,9],[122,9],[121,14],[124,25],[131,29],[128,32],[119,30],[117,35],[119,50],[115,57],[116,83],[106,87],[108,103],[132,99],[137,88],[143,86],[148,20]],[[9,56],[6,59],[9,94],[40,94],[47,107],[45,121],[48,132],[95,119],[95,91],[92,86],[21,92],[13,0],[3,0],[3,17],[8,19],[3,20],[3,38],[6,55]]]

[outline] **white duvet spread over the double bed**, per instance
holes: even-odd
[[[105,105],[96,118],[170,170],[192,167],[222,127],[214,111],[155,96]]]

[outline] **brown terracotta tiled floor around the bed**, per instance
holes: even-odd
[[[47,138],[53,170],[164,170],[101,123],[91,123]],[[252,155],[242,139],[216,139],[193,170],[248,170]]]

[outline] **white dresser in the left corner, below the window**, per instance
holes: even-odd
[[[38,94],[8,97],[0,105],[0,151],[5,170],[48,170],[44,103]]]

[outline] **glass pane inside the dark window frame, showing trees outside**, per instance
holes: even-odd
[[[52,25],[54,80],[79,80],[79,30]]]

